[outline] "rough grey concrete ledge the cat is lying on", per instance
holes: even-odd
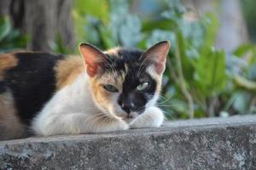
[[[256,169],[256,116],[0,142],[0,169]]]

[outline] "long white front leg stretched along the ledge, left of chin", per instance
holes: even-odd
[[[43,117],[42,117],[43,118]],[[39,118],[40,119],[40,118]],[[33,130],[38,135],[104,133],[127,130],[128,124],[122,120],[103,115],[87,116],[84,113],[62,114],[44,117],[33,123]]]

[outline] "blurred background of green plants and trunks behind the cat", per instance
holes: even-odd
[[[1,0],[0,53],[79,54],[172,42],[159,105],[170,119],[256,113],[256,1]]]

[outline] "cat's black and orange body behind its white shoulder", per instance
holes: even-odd
[[[40,52],[0,54],[0,133],[12,133],[9,128],[21,133],[53,94],[73,81],[81,63]]]

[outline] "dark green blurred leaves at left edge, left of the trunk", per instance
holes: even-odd
[[[0,16],[0,53],[26,48],[28,37],[12,28],[7,16]]]

